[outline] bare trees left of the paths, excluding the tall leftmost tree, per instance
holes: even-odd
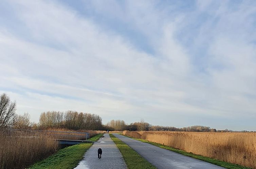
[[[29,113],[15,115],[12,123],[1,128],[45,130],[49,128],[65,128],[70,130],[106,130],[102,118],[97,114],[78,113],[77,111],[42,112],[38,123],[30,122]]]

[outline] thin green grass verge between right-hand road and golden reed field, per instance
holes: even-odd
[[[172,147],[168,147],[168,146],[165,146],[165,145],[162,145],[162,144],[159,144],[159,143],[149,142],[148,140],[133,138],[131,136],[124,135],[124,134],[120,134],[120,135],[129,137],[129,138],[132,138],[132,139],[135,139],[135,140],[139,140],[143,143],[149,143],[149,144],[152,144],[154,146],[158,146],[160,148],[164,148],[164,149],[167,149],[167,150],[170,150],[170,151],[174,151],[174,152],[177,152],[177,153],[189,156],[189,157],[200,159],[202,161],[205,161],[205,162],[208,162],[208,163],[211,163],[211,164],[215,164],[217,166],[221,166],[221,167],[224,167],[224,168],[228,168],[228,169],[251,169],[251,168],[248,168],[248,167],[245,167],[245,166],[240,166],[238,164],[228,163],[228,162],[220,161],[218,159],[209,158],[209,157],[205,157],[205,156],[202,156],[202,155],[196,155],[196,154],[193,154],[193,153],[188,153],[186,151],[175,149],[175,148],[172,148]]]

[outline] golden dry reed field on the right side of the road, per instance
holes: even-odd
[[[256,169],[256,133],[124,131],[123,134]]]

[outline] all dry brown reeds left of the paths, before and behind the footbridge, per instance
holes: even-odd
[[[92,130],[47,129],[49,131],[88,132],[90,137],[95,136]],[[20,169],[29,166],[59,149],[58,139],[85,139],[84,134],[53,133],[31,131],[0,130],[0,169]],[[74,137],[75,136],[75,137]]]

